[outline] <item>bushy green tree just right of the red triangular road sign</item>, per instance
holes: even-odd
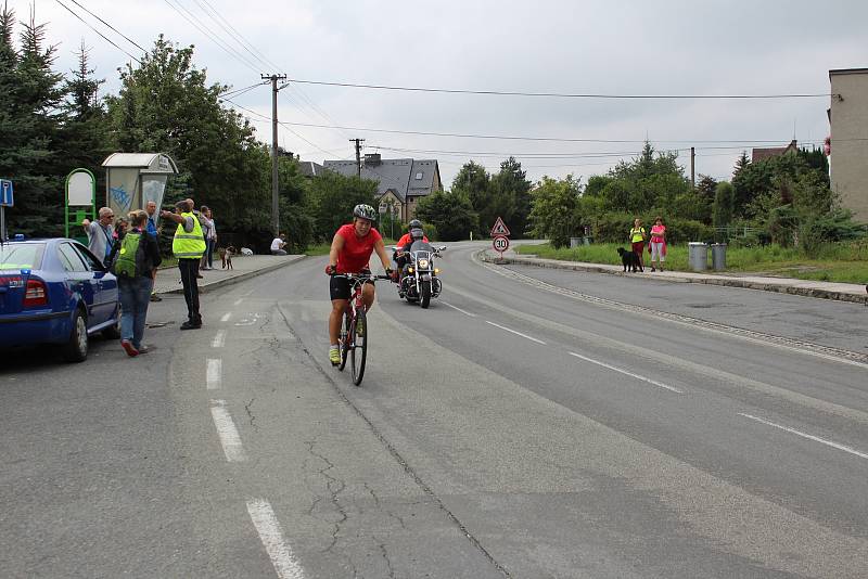
[[[562,180],[544,177],[532,193],[529,219],[533,235],[548,239],[553,247],[569,245],[570,237],[579,233],[577,208],[580,195],[579,180],[572,175]]]

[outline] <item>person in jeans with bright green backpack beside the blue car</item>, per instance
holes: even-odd
[[[156,239],[148,234],[148,214],[131,211],[129,220],[131,227],[115,241],[108,262],[120,298],[120,346],[132,358],[148,352],[142,337],[154,283],[152,272],[163,258]]]

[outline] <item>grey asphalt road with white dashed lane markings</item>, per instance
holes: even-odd
[[[148,356],[4,355],[0,575],[868,575],[864,306],[482,247],[378,285],[361,387],[324,258],[153,305]]]

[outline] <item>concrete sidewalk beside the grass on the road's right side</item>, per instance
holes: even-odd
[[[495,263],[516,263],[541,268],[569,269],[573,271],[591,271],[598,273],[609,273],[612,275],[629,275],[631,278],[647,276],[649,279],[665,280],[668,282],[707,283],[714,285],[725,285],[729,287],[745,287],[749,290],[763,290],[765,292],[778,292],[781,294],[819,297],[824,299],[855,301],[858,304],[868,305],[868,292],[866,292],[866,286],[854,283],[818,282],[812,280],[769,278],[726,272],[695,273],[690,271],[655,271],[652,273],[651,269],[648,267],[644,269],[643,273],[624,273],[624,268],[622,266],[584,263],[579,261],[561,261],[558,259],[542,259],[526,255],[520,256],[512,249],[503,254],[502,261],[498,259],[497,253],[492,249],[485,249],[482,257],[485,261]]]

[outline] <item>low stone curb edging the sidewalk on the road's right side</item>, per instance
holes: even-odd
[[[627,276],[623,271],[612,271],[611,269],[589,266],[585,263],[565,263],[553,259],[541,259],[531,257],[505,257],[502,259],[493,257],[488,254],[487,249],[483,249],[477,254],[480,259],[489,263],[509,265],[515,263],[521,266],[535,266],[538,268],[550,269],[564,269],[572,271],[588,271],[591,273],[607,273],[609,275],[623,275]],[[630,275],[633,276],[633,275]],[[794,285],[787,285],[784,283],[760,283],[738,278],[727,278],[724,275],[714,278],[654,278],[655,280],[675,283],[704,283],[707,285],[722,285],[726,287],[740,287],[743,290],[760,290],[762,292],[777,292],[779,294],[790,294],[804,297],[816,297],[819,299],[832,299],[835,301],[850,301],[853,304],[868,305],[868,293],[865,295],[850,294],[846,292],[835,292],[833,290],[824,290],[821,287],[799,287]]]

